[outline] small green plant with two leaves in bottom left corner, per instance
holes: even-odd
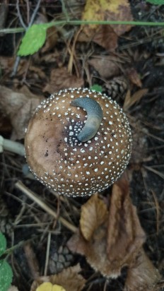
[[[0,232],[0,257],[6,252],[6,238]],[[0,290],[7,291],[11,285],[13,272],[5,259],[0,259]]]

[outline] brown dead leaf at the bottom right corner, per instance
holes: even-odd
[[[129,266],[124,291],[155,291],[159,280],[158,270],[148,259],[144,249],[141,249],[136,259]]]

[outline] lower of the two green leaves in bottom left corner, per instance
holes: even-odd
[[[5,260],[0,261],[0,290],[7,291],[13,279],[11,266]]]

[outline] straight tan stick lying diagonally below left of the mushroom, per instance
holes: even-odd
[[[49,215],[52,215],[55,219],[58,218],[57,213],[55,213],[55,211],[52,210],[52,208],[47,206],[47,204],[44,201],[42,201],[42,199],[39,196],[37,196],[37,194],[35,194],[33,191],[30,191],[30,189],[28,189],[21,181],[16,182],[15,186],[16,188],[21,190],[25,195],[27,195],[29,198],[35,201],[35,203],[37,203],[42,209],[49,213]],[[77,231],[77,228],[74,225],[71,225],[71,223],[69,223],[64,218],[59,217],[58,219],[62,223],[62,225],[71,230],[71,232]]]

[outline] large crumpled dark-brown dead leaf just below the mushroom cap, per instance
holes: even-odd
[[[93,213],[90,213],[90,217],[93,216]],[[87,225],[88,213],[86,217]],[[123,266],[131,266],[135,261],[145,238],[136,208],[129,198],[128,184],[125,179],[121,179],[113,186],[107,220],[98,225],[90,240],[87,241],[83,237],[83,231],[80,229],[69,239],[67,246],[71,251],[86,256],[90,266],[102,275],[116,278]]]

